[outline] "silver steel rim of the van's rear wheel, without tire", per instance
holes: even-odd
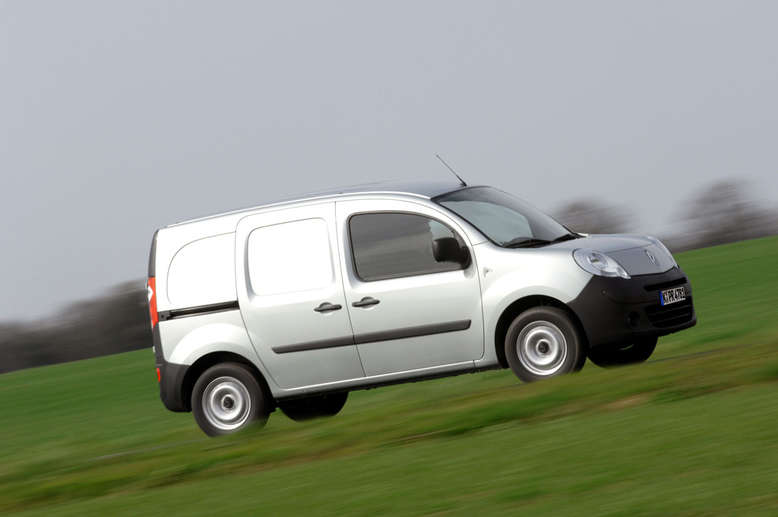
[[[249,390],[235,377],[217,377],[209,382],[202,404],[208,423],[222,431],[238,429],[251,414]]]

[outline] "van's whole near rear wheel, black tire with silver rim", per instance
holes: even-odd
[[[192,390],[192,414],[208,436],[264,426],[272,408],[270,396],[245,365],[221,363],[200,375]]]

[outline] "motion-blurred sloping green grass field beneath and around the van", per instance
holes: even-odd
[[[699,323],[655,360],[352,393],[208,439],[150,350],[0,376],[0,514],[778,515],[778,238],[678,257]]]

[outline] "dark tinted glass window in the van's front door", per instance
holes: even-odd
[[[443,223],[416,214],[368,213],[349,220],[351,251],[357,276],[364,281],[426,275],[462,269],[460,264],[438,262],[433,240],[462,239]]]

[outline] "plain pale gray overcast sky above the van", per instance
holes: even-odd
[[[369,5],[368,5],[369,4]],[[142,278],[155,228],[441,179],[672,230],[778,202],[778,2],[0,1],[0,321]]]

